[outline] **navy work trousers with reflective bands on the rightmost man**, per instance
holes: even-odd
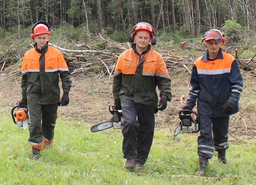
[[[209,117],[199,114],[200,136],[197,138],[197,154],[211,159],[213,152],[226,150],[229,130],[229,116]],[[212,137],[213,132],[213,137]]]

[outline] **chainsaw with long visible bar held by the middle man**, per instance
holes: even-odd
[[[109,129],[111,127],[114,127],[114,129],[123,128],[124,118],[122,116],[122,111],[117,110],[115,105],[110,105],[109,112],[113,115],[111,121],[91,126],[91,132],[98,132],[101,130]]]

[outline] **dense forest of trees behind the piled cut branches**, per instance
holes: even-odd
[[[83,25],[87,32],[108,35],[129,32],[146,21],[155,30],[195,35],[221,28],[235,19],[242,27],[256,28],[255,0],[1,0],[0,38],[11,28],[26,28],[44,20],[58,28]],[[126,33],[125,33],[126,35]]]

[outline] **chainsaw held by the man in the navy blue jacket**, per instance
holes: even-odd
[[[174,137],[181,131],[185,133],[197,133],[200,130],[199,116],[192,110],[179,110],[180,125],[174,130]]]

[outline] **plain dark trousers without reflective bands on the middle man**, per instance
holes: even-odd
[[[128,102],[122,102],[121,106],[124,117],[122,129],[124,158],[136,159],[144,164],[154,137],[154,110],[141,109]]]

